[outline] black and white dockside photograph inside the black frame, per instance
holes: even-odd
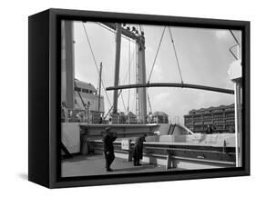
[[[242,167],[242,32],[61,21],[61,177]]]

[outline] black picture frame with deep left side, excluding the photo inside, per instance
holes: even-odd
[[[242,167],[60,177],[60,20],[175,25],[242,31]],[[48,9],[28,19],[28,179],[48,188],[250,175],[250,22]],[[39,113],[38,113],[39,112]]]

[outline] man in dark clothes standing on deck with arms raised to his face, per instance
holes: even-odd
[[[105,135],[103,137],[103,144],[104,144],[104,155],[106,160],[106,170],[108,172],[112,172],[110,165],[111,163],[113,163],[115,159],[113,142],[116,139],[117,139],[117,133],[111,132],[110,127],[107,127],[105,130]]]

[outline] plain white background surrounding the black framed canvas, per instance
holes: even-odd
[[[46,190],[26,181],[27,174],[27,16],[49,7],[115,11],[156,15],[179,15],[206,18],[251,20],[251,75],[255,71],[255,5],[250,0],[210,1],[119,1],[119,0],[21,0],[1,1],[1,196],[242,196],[255,192],[255,170],[251,177],[220,178],[182,182],[153,182]],[[256,84],[256,77],[251,78]],[[255,87],[251,85],[251,101]],[[254,90],[253,90],[254,89]],[[255,119],[255,103],[251,103],[251,120]],[[255,121],[251,123],[251,139],[255,139]],[[254,142],[254,140],[252,140]],[[251,166],[255,166],[255,143],[251,144]],[[254,153],[254,155],[253,155]],[[40,170],[40,169],[38,169]]]

